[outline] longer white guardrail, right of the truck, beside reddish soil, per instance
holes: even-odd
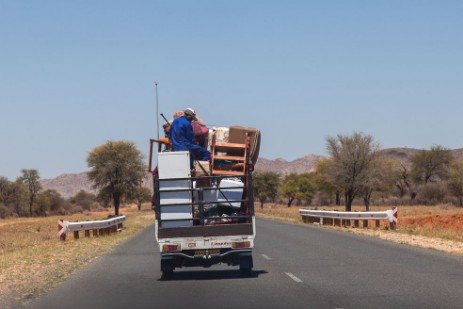
[[[339,224],[341,220],[355,220],[356,226],[358,220],[388,220],[391,228],[395,228],[398,221],[398,209],[396,207],[386,211],[365,211],[365,212],[344,212],[344,211],[328,211],[328,210],[309,210],[299,209],[299,214],[306,218],[320,218],[320,224],[332,223],[335,225],[335,221],[338,220]],[[324,218],[331,220],[325,220],[330,222],[324,222]],[[310,220],[304,220],[310,221]],[[377,221],[379,222],[379,221]],[[378,225],[377,225],[378,226]]]

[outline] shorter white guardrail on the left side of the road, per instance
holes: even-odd
[[[79,238],[79,231],[85,231],[85,236],[89,237],[91,230],[93,230],[94,236],[109,234],[122,228],[122,222],[124,221],[125,216],[82,222],[58,220],[58,236],[61,240],[65,240],[67,232],[74,232],[74,238]]]

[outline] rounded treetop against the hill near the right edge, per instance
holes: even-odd
[[[424,184],[445,180],[452,161],[452,153],[442,146],[420,150],[411,158],[413,179]]]

